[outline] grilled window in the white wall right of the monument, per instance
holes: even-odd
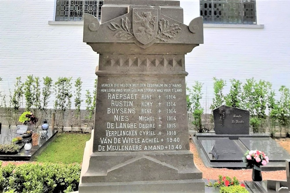
[[[200,0],[204,23],[257,24],[255,0]]]

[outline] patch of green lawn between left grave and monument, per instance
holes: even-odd
[[[59,133],[57,138],[36,158],[38,162],[81,163],[89,134]]]

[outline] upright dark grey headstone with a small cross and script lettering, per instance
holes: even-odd
[[[249,134],[249,111],[222,105],[213,110],[216,134]]]

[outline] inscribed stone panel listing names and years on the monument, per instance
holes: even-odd
[[[188,150],[184,81],[144,79],[100,80],[96,151]]]

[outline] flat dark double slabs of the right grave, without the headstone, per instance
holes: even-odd
[[[246,168],[242,157],[247,150],[261,150],[269,156],[269,163],[262,166],[263,171],[284,170],[285,159],[289,159],[289,153],[276,141],[266,134],[217,137],[215,133],[195,134],[193,141],[203,163],[214,168],[240,169]],[[232,139],[231,139],[232,138]],[[212,156],[212,148],[216,151],[218,158]]]

